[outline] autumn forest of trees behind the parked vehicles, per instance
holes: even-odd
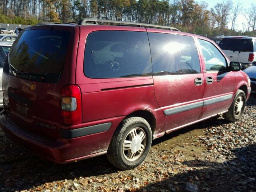
[[[255,35],[256,4],[242,9],[231,0],[216,2],[212,8],[205,1],[194,0],[0,0],[0,23],[35,25],[39,21],[99,18],[174,26],[208,36],[241,34],[236,30],[239,14],[247,20],[245,34]]]

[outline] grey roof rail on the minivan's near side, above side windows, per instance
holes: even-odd
[[[105,19],[92,19],[92,18],[84,18],[80,22],[72,22],[72,23],[78,23],[78,25],[99,25],[99,22],[121,24],[118,26],[134,26],[135,25],[138,27],[161,28],[161,29],[168,29],[173,31],[180,31],[177,28],[168,27],[168,26],[152,25],[152,24],[136,23],[136,22],[126,22],[126,21],[105,20]]]

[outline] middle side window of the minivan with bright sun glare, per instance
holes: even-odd
[[[200,62],[194,39],[189,36],[148,33],[153,75],[200,73]]]

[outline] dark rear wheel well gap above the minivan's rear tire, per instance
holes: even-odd
[[[154,131],[156,129],[156,118],[154,117],[154,115],[151,112],[146,111],[146,110],[139,110],[139,111],[132,112],[126,118],[130,118],[130,117],[144,118],[149,123],[149,125],[151,127],[152,135],[154,134]]]

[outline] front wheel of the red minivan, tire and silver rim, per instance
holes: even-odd
[[[228,112],[224,113],[223,117],[231,122],[239,120],[244,113],[245,102],[245,93],[240,89],[237,90],[236,96],[234,97],[231,106],[228,108]]]

